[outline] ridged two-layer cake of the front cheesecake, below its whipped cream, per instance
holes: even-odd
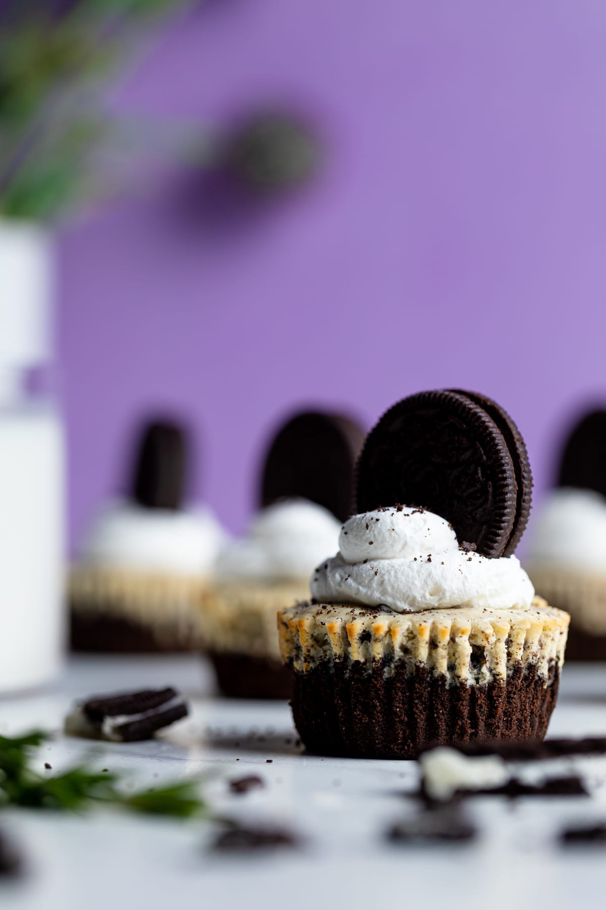
[[[293,717],[313,753],[416,758],[435,745],[541,740],[558,695],[569,616],[303,603],[279,615]]]

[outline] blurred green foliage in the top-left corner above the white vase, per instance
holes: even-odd
[[[187,2],[0,0],[0,215],[47,220],[98,188],[107,76],[143,25]]]

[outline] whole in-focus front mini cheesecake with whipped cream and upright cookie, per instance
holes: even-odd
[[[307,749],[415,758],[541,741],[570,617],[535,597],[514,555],[531,485],[522,436],[492,399],[422,392],[383,415],[338,553],[313,572],[312,600],[278,613]]]

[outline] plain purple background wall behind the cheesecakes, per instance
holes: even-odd
[[[603,0],[214,0],[172,25],[122,112],[293,101],[330,157],[261,211],[192,216],[166,177],[64,232],[73,533],[156,404],[193,420],[196,491],[234,530],[302,402],[372,422],[416,389],[480,389],[544,487],[561,421],[606,392],[605,48]]]

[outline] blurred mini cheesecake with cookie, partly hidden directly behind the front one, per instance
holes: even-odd
[[[260,510],[224,549],[200,625],[219,687],[233,698],[290,698],[276,612],[309,599],[309,576],[335,552],[353,498],[363,430],[349,418],[304,411],[275,432],[263,460]]]

